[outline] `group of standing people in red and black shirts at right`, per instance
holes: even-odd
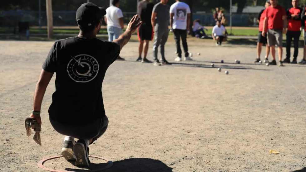
[[[267,0],[265,9],[259,13],[259,35],[257,41],[257,58],[255,62],[260,62],[262,45],[266,44],[265,61],[270,65],[276,65],[275,46],[278,46],[279,66],[283,63],[297,64],[299,53],[299,37],[302,26],[306,24],[305,8],[299,7],[299,0],[292,0],[292,7],[287,11],[278,5],[278,0]],[[306,31],[306,27],[304,27]],[[283,55],[283,34],[286,34],[286,58],[282,60]],[[294,42],[294,55],[291,58],[291,42]],[[273,60],[269,62],[268,56],[271,52]],[[299,64],[306,64],[306,37],[304,37],[304,55]]]

